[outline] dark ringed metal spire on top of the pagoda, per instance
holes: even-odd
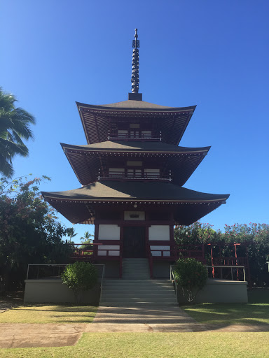
[[[139,91],[139,40],[137,40],[137,29],[135,29],[135,40],[132,40],[132,93],[129,93],[129,99],[142,101],[142,93]]]

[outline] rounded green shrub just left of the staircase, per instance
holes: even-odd
[[[83,291],[96,285],[97,278],[97,270],[89,262],[75,262],[67,265],[62,273],[62,283],[73,290],[76,303],[81,301]]]

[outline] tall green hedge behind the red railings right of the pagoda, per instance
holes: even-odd
[[[214,257],[219,257],[219,245],[222,245],[222,257],[235,257],[234,246],[228,243],[245,243],[247,246],[237,246],[237,257],[249,258],[251,282],[257,287],[269,286],[268,266],[269,260],[269,225],[233,224],[225,225],[224,232],[215,231],[213,225],[194,222],[187,226],[179,225],[174,228],[174,238],[179,247],[184,245],[200,245],[216,243],[212,245]],[[205,245],[205,258],[207,264],[211,264],[210,249]]]

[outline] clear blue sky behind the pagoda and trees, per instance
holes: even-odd
[[[230,194],[201,221],[269,223],[268,0],[0,2],[0,85],[37,121],[15,176],[50,176],[44,191],[81,186],[60,142],[86,144],[75,101],[127,99],[137,27],[144,101],[196,104],[180,145],[212,145],[184,186]]]

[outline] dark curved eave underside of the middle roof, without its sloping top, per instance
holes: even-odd
[[[175,147],[172,152],[169,150],[137,150],[134,149],[107,149],[89,148],[90,145],[66,145],[61,143],[62,149],[71,165],[78,181],[82,185],[95,182],[98,170],[101,167],[99,157],[160,157],[167,159],[167,170],[173,173],[173,182],[177,185],[184,185],[192,173],[207,155],[210,147],[205,148],[180,148]]]

